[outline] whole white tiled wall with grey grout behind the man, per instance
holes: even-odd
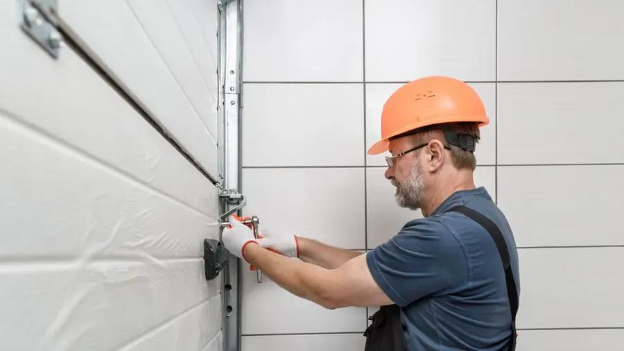
[[[491,120],[475,181],[519,246],[519,350],[622,349],[624,87],[603,80],[623,79],[623,16],[615,0],[247,1],[247,213],[347,248],[382,243],[420,216],[365,155],[383,102],[408,80],[456,76]],[[351,333],[365,311],[243,277],[243,350],[363,349]]]

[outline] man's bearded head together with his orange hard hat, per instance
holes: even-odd
[[[397,186],[399,205],[417,209],[434,189],[471,179],[478,128],[488,122],[481,99],[466,83],[420,78],[399,87],[385,102],[381,140],[368,153],[397,156],[389,158],[385,177]]]

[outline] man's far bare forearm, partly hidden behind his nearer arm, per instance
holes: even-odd
[[[297,237],[299,241],[299,258],[304,262],[322,266],[327,269],[338,268],[353,257],[363,252],[334,248],[313,239]]]

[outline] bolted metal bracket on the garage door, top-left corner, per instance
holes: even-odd
[[[58,31],[57,0],[19,0],[19,26],[46,53],[58,58],[58,51],[63,41]]]

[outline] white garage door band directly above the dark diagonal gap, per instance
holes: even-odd
[[[198,114],[200,108],[187,96],[190,87],[184,89],[182,82],[177,82],[160,53],[164,49],[150,40],[130,5],[123,0],[60,0],[58,12],[133,99],[216,179],[216,139]],[[205,96],[205,100],[209,98]],[[216,116],[216,109],[214,113]]]

